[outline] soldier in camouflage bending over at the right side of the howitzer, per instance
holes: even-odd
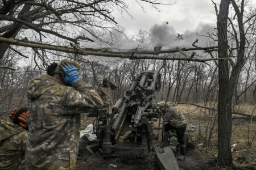
[[[187,128],[187,121],[184,115],[174,107],[174,103],[160,101],[158,103],[160,112],[162,112],[162,117],[164,120],[164,138],[163,143],[168,141],[168,130],[175,129],[177,134],[177,139],[180,143],[180,154],[179,160],[185,159],[185,143],[184,143],[184,133]]]

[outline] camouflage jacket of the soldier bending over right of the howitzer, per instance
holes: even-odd
[[[167,107],[162,116],[164,121],[168,121],[168,124],[175,128],[187,126],[187,121],[184,115],[176,107]]]

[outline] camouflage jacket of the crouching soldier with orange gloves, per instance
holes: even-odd
[[[0,121],[0,169],[26,169],[28,131],[12,122]]]

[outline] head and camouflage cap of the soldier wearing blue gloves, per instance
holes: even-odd
[[[56,75],[59,75],[62,82],[64,82],[64,81],[63,81],[63,78],[65,77],[65,73],[64,73],[63,68],[62,68],[61,65],[63,65],[64,63],[65,63],[65,64],[69,64],[69,65],[75,66],[75,67],[77,68],[77,73],[79,74],[79,72],[80,72],[80,65],[79,65],[78,62],[76,62],[76,61],[71,61],[71,60],[69,60],[69,59],[63,59],[63,60],[59,63],[59,65],[56,66],[55,71],[53,71],[53,76],[58,79],[59,77],[56,76]]]

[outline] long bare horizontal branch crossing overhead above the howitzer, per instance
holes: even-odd
[[[228,58],[206,58],[206,59],[200,59],[200,58],[193,58],[193,54],[189,58],[184,57],[166,57],[166,56],[158,56],[158,54],[161,53],[176,53],[179,52],[179,50],[188,51],[188,49],[174,49],[174,50],[165,50],[165,51],[159,51],[159,52],[137,52],[136,50],[131,52],[111,52],[107,50],[99,50],[99,49],[81,49],[78,48],[76,45],[71,44],[73,48],[68,48],[65,46],[56,46],[56,45],[48,45],[48,44],[39,44],[35,42],[29,42],[29,41],[22,41],[22,40],[16,40],[16,39],[7,39],[4,37],[0,37],[0,42],[7,42],[9,44],[13,45],[19,45],[19,46],[27,46],[31,48],[39,48],[39,49],[48,49],[48,50],[55,50],[59,52],[65,52],[65,53],[73,53],[73,54],[81,54],[84,56],[92,55],[92,56],[102,56],[102,57],[117,57],[117,58],[129,58],[129,59],[162,59],[162,60],[184,60],[184,61],[194,61],[194,62],[205,62],[205,61],[212,61],[212,60],[218,60],[218,59],[228,59]],[[215,48],[215,47],[210,47]],[[205,48],[189,48],[189,50],[204,50]],[[147,56],[148,54],[151,54],[151,56]]]

